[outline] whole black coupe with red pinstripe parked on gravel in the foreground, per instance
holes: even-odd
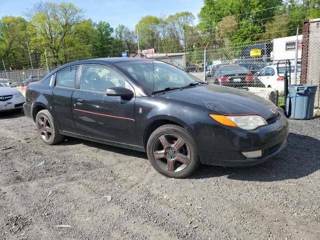
[[[288,135],[271,101],[150,59],[71,62],[26,88],[24,112],[44,143],[68,135],[145,151],[169,177],[185,177],[200,163],[263,162]]]

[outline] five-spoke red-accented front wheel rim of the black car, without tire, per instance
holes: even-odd
[[[185,140],[175,134],[164,134],[153,144],[153,157],[157,165],[168,172],[178,172],[190,163],[191,151]]]

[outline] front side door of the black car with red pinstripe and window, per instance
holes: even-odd
[[[134,99],[107,96],[110,87],[132,86],[103,65],[81,65],[79,83],[72,94],[72,115],[78,134],[136,144]]]

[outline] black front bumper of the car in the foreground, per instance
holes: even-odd
[[[255,130],[218,124],[195,123],[187,127],[197,144],[203,164],[247,166],[267,160],[286,145],[288,123],[283,113],[276,121]],[[247,158],[242,152],[262,150],[262,155]]]

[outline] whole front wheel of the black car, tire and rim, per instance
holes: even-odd
[[[194,139],[177,125],[156,128],[147,141],[146,153],[155,170],[168,177],[186,177],[200,164]]]

